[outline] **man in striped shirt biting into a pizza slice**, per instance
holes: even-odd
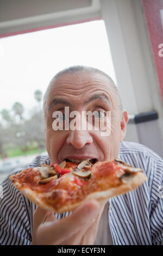
[[[53,113],[111,113],[109,136],[100,130],[53,129]],[[60,163],[64,159],[105,161],[119,157],[140,167],[148,180],[139,188],[101,203],[91,200],[74,212],[53,214],[36,208],[9,178],[3,181],[0,242],[2,245],[161,245],[163,240],[163,162],[152,150],[123,142],[128,122],[115,84],[104,72],[85,66],[60,71],[43,102],[48,156],[28,164]],[[99,119],[101,115],[99,114]],[[20,170],[15,170],[14,173]]]

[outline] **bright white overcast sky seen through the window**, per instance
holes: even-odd
[[[116,83],[103,21],[92,21],[0,39],[0,111],[19,101],[29,111],[34,91],[71,65],[106,72]]]

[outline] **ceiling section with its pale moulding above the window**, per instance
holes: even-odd
[[[0,35],[100,17],[99,0],[1,0]]]

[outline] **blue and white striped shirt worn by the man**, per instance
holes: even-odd
[[[141,168],[147,181],[136,190],[109,199],[109,226],[114,245],[163,244],[163,161],[151,149],[132,142],[122,142],[118,157],[131,166]],[[28,167],[49,164],[48,156],[37,156]],[[14,170],[13,173],[20,172]],[[10,174],[11,175],[11,174]],[[30,202],[5,178],[3,198],[0,199],[0,243],[30,245],[32,243],[33,213]],[[1,195],[2,197],[2,195]],[[59,219],[72,212],[55,214]]]

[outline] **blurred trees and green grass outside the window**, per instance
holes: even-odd
[[[34,97],[40,103],[42,92],[36,90]],[[15,102],[11,108],[2,109],[3,119],[0,123],[0,156],[13,157],[36,154],[45,151],[45,135],[43,114],[40,108],[35,107],[30,112],[30,118],[24,118],[22,103]],[[15,118],[18,116],[19,118]]]

